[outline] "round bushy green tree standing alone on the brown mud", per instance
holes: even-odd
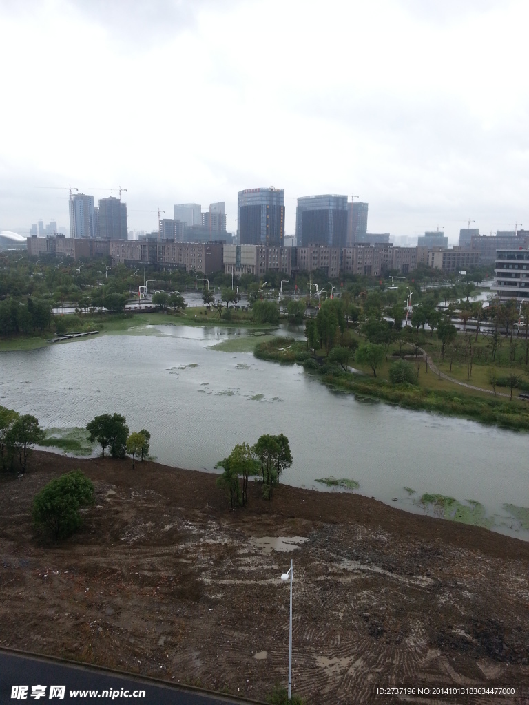
[[[94,485],[80,470],[51,480],[35,495],[32,517],[37,528],[49,529],[54,538],[64,539],[82,524],[80,507],[95,503]]]

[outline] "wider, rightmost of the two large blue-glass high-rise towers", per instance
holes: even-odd
[[[298,245],[345,247],[347,196],[321,195],[298,198],[296,240]]]

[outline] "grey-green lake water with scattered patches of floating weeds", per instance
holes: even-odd
[[[159,462],[198,470],[214,470],[235,443],[282,432],[294,461],[286,484],[326,489],[317,478],[353,479],[360,494],[414,512],[425,511],[425,493],[477,501],[496,530],[529,539],[504,508],[529,507],[529,434],[360,403],[297,365],[213,347],[233,341],[243,349],[243,330],[148,332],[0,353],[0,404],[36,415],[43,427],[85,427],[118,412],[131,431],[150,430]]]

